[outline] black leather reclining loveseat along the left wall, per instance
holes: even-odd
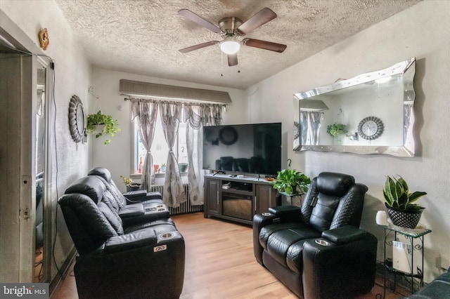
[[[161,199],[127,204],[113,185],[91,173],[58,203],[79,253],[79,298],[179,298],[184,238]]]

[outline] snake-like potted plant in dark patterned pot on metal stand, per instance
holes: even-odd
[[[422,215],[423,207],[413,204],[426,195],[427,192],[409,192],[409,186],[400,175],[391,178],[387,175],[383,196],[387,213],[394,225],[415,228]]]

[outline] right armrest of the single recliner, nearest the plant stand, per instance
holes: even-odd
[[[334,239],[331,238],[333,241],[328,239],[328,244],[322,244],[321,239],[304,242],[302,252],[304,298],[335,298],[338,293],[348,294],[346,298],[355,298],[373,288],[377,238],[370,232],[356,233],[359,228],[353,227],[353,230],[348,228],[348,231],[355,232],[352,234],[354,239],[344,240],[341,236],[347,231],[347,227],[340,230],[341,228],[333,230],[338,231],[338,234],[334,235]],[[343,243],[336,244],[335,241]],[[342,281],[352,281],[352,284],[342,284]]]

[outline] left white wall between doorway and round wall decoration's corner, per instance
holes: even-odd
[[[68,22],[63,17],[60,9],[53,1],[0,1],[0,10],[39,47],[38,33],[46,27],[49,30],[50,44],[45,54],[55,61],[55,90],[54,100],[56,103],[56,142],[52,138],[51,145],[51,168],[52,182],[51,194],[48,195],[51,207],[46,208],[46,213],[51,213],[52,236],[55,234],[54,223],[56,214],[56,201],[70,183],[85,175],[88,170],[87,145],[75,145],[68,124],[69,102],[72,95],[78,95],[87,109],[87,90],[89,88],[91,67],[84,54],[79,48],[72,34]],[[14,37],[14,36],[13,36]],[[39,47],[40,48],[40,47]],[[53,102],[51,105],[51,119],[55,119]],[[53,132],[53,124],[51,124]],[[55,148],[58,152],[58,164],[56,163]],[[58,168],[58,169],[57,169]],[[56,180],[56,173],[58,178]],[[58,193],[56,193],[56,182],[58,182]],[[51,237],[51,236],[47,236]],[[53,244],[53,238],[52,244]],[[55,260],[60,267],[68,253],[73,248],[72,239],[65,227],[61,212],[58,211],[58,235],[54,248]],[[19,249],[19,248],[18,248]],[[46,248],[50,253],[51,248]],[[50,255],[49,255],[50,256]],[[53,267],[53,263],[51,263]],[[56,275],[52,269],[51,277]]]

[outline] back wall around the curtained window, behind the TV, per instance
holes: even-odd
[[[122,131],[111,139],[109,145],[103,145],[103,136],[97,139],[94,136],[89,136],[90,166],[91,168],[97,166],[108,168],[117,187],[122,191],[125,190],[125,186],[121,183],[120,175],[129,176],[131,172],[131,104],[129,101],[124,101],[124,95],[120,95],[120,79],[227,91],[233,103],[226,107],[223,124],[245,124],[246,119],[248,119],[246,93],[243,90],[147,77],[94,67],[92,86],[94,87],[94,94],[99,98],[90,97],[89,113],[96,113],[100,109],[101,112],[110,114],[113,119],[117,119]]]

